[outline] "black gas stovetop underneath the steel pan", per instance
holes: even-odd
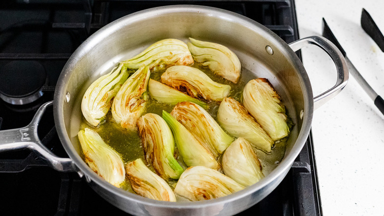
[[[9,0],[0,3],[0,129],[26,126],[53,100],[67,59],[106,24],[169,4],[230,10],[265,25],[287,43],[299,38],[294,0]],[[300,53],[298,53],[300,57]],[[52,107],[38,127],[54,154],[68,157]],[[311,135],[287,177],[261,202],[239,215],[321,215]],[[0,215],[127,215],[103,200],[76,173],[48,167],[30,150],[0,153]]]

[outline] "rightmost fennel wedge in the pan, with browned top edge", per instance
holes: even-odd
[[[243,91],[244,107],[273,141],[289,135],[287,115],[280,96],[266,78],[253,79]]]

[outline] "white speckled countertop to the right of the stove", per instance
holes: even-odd
[[[384,53],[360,26],[365,8],[384,33],[384,0],[295,0],[300,38],[321,35],[324,17],[347,56],[384,97]],[[302,49],[314,95],[332,87],[336,69],[318,47]],[[384,215],[384,115],[353,76],[314,112],[312,133],[325,216]]]

